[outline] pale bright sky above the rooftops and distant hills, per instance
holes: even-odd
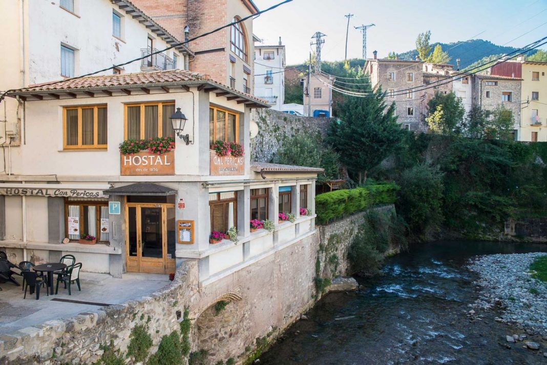
[[[260,10],[279,2],[254,0]],[[389,51],[414,49],[418,34],[427,30],[431,43],[485,39],[517,48],[547,36],[547,0],[293,0],[254,19],[253,32],[264,44],[277,44],[281,37],[290,65],[309,58],[311,36],[320,31],[327,34],[322,60],[339,61],[344,60],[348,13],[354,14],[348,58],[362,56],[362,35],[354,26],[370,23],[375,26],[366,33],[369,58],[374,50],[383,58]]]

